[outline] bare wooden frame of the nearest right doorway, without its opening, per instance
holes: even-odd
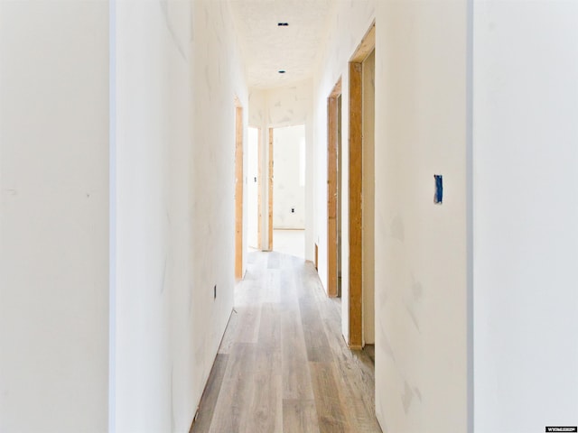
[[[375,50],[375,23],[350,59],[350,338],[352,349],[363,347],[363,61]]]

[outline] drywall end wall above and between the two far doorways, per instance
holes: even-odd
[[[268,244],[267,218],[268,189],[267,164],[269,161],[268,140],[270,127],[284,127],[295,124],[305,125],[305,184],[313,181],[313,145],[312,145],[312,81],[306,80],[284,88],[250,89],[249,124],[260,127],[261,134],[261,172],[263,173],[262,215],[265,216],[262,230],[262,244]],[[305,189],[305,258],[314,259],[314,210],[312,189]]]

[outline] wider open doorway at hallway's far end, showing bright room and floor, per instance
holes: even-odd
[[[305,125],[271,129],[269,221],[273,251],[305,256]]]

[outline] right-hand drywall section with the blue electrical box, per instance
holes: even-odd
[[[387,431],[468,429],[466,18],[465,1],[378,3],[376,410]]]

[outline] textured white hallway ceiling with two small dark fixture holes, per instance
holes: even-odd
[[[249,87],[277,88],[311,78],[335,0],[230,0],[230,4]],[[280,74],[280,69],[286,72]]]

